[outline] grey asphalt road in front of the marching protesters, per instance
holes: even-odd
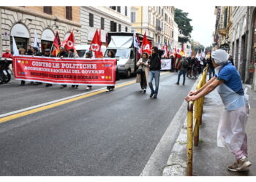
[[[157,99],[129,84],[0,123],[0,175],[140,175],[195,82],[176,79],[160,76]],[[19,84],[0,86],[0,115],[88,92]]]

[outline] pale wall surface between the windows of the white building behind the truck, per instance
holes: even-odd
[[[94,15],[94,27],[89,26],[89,13]],[[130,22],[130,7],[127,7],[127,16],[125,15],[125,7],[121,7],[121,12],[117,12],[110,7],[81,7],[80,9],[80,22],[82,24],[81,28],[81,44],[89,44],[93,39],[96,29],[101,29],[101,17],[105,19],[105,27],[102,30],[102,42],[105,42],[106,33],[110,31],[110,21],[121,24],[121,31],[125,32],[127,27],[127,32],[131,32],[131,22]]]

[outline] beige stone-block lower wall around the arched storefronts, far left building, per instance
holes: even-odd
[[[6,49],[10,49],[10,35],[12,27],[18,23],[24,25],[29,31],[28,44],[30,45],[34,45],[35,29],[37,30],[37,36],[39,39],[40,47],[42,32],[45,29],[50,29],[50,31],[53,31],[53,33],[59,31],[59,37],[61,41],[64,41],[64,36],[74,29],[75,44],[80,44],[80,22],[74,22],[71,20],[64,19],[62,17],[58,17],[58,20],[55,21],[55,14],[48,15],[39,12],[39,9],[39,7],[29,7],[29,9],[27,9],[26,7],[0,7],[1,53]],[[72,12],[74,12],[74,10],[72,10]],[[59,28],[56,28],[55,25],[59,26]],[[4,36],[4,34],[7,36]],[[26,49],[26,47],[23,48]]]

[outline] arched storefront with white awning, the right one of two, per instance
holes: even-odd
[[[54,40],[54,33],[50,29],[45,29],[45,31],[42,32],[42,38],[41,38],[41,50],[42,53],[45,53],[46,49],[50,49],[52,47]]]

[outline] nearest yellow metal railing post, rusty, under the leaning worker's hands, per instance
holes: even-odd
[[[187,175],[193,173],[193,102],[187,106]]]

